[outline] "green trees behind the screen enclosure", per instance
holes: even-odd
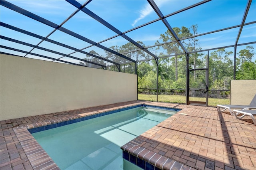
[[[195,37],[198,35],[198,26],[192,25],[190,28],[173,28],[176,35],[183,40],[185,48],[188,51],[200,51],[199,40]],[[160,41],[156,41],[155,47],[150,48],[150,51],[155,51],[159,57],[158,64],[158,87],[160,89],[185,89],[186,88],[186,57],[180,55],[183,53],[178,43],[173,42],[174,38],[167,30],[164,34],[160,34]],[[172,42],[172,43],[168,43]],[[142,46],[143,42],[138,41]],[[138,88],[155,89],[156,88],[156,61],[152,56],[148,55],[143,50],[138,50],[138,47],[132,43],[126,43],[122,46],[109,47],[119,53],[125,53],[127,57],[138,61]],[[129,52],[133,51],[133,52]],[[129,53],[128,53],[129,52]],[[89,51],[94,55],[100,56],[96,51]],[[135,73],[135,64],[128,62],[122,57],[113,55],[105,51],[104,57],[117,62],[124,63],[120,66],[122,72]],[[236,79],[256,79],[256,60],[254,58],[254,48],[250,45],[245,49],[236,53]],[[103,57],[103,56],[100,56]],[[88,61],[96,61],[94,57],[86,55],[84,58]],[[225,48],[216,49],[208,54],[203,52],[189,54],[189,69],[199,69],[190,71],[190,88],[205,88],[206,85],[206,71],[200,68],[207,67],[207,59],[209,60],[209,89],[229,90],[230,80],[234,75],[234,52],[228,51]],[[97,63],[104,64],[104,61],[99,60]],[[80,63],[90,65],[89,63]],[[115,65],[108,66],[108,70],[118,71]],[[143,92],[143,91],[141,91]]]

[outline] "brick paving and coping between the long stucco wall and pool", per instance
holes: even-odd
[[[148,103],[130,101],[1,121],[0,169],[60,169],[30,134],[31,129],[93,117],[101,113]],[[30,130],[30,132],[29,132]]]

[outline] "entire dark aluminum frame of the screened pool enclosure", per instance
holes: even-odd
[[[139,50],[143,50],[144,52],[146,52],[148,55],[150,55],[151,57],[153,57],[153,59],[155,60],[156,62],[156,71],[157,71],[157,101],[158,101],[158,66],[159,66],[159,61],[158,59],[159,58],[164,58],[164,57],[170,57],[170,56],[175,56],[175,55],[170,55],[170,56],[156,56],[155,54],[153,54],[152,52],[150,52],[148,50],[148,48],[150,47],[157,47],[157,46],[160,46],[160,45],[164,45],[164,44],[168,44],[168,43],[178,43],[178,45],[181,47],[181,49],[184,51],[184,53],[180,53],[180,54],[176,54],[176,55],[185,55],[186,57],[186,70],[187,70],[187,73],[186,73],[186,104],[188,105],[189,104],[189,80],[190,80],[190,77],[189,77],[189,54],[191,53],[197,53],[197,52],[202,52],[202,51],[208,51],[208,57],[209,57],[209,51],[210,50],[214,50],[214,49],[220,49],[220,48],[226,48],[226,47],[234,47],[234,79],[236,79],[236,50],[237,50],[237,47],[240,46],[240,45],[248,45],[248,44],[254,44],[256,43],[256,41],[254,42],[247,42],[247,43],[241,43],[241,44],[238,44],[238,40],[240,38],[240,35],[241,35],[241,32],[242,32],[242,29],[244,26],[246,25],[250,25],[250,24],[255,24],[256,21],[253,21],[253,22],[249,22],[249,23],[245,23],[246,21],[246,17],[247,17],[247,14],[248,14],[248,11],[250,9],[250,5],[252,4],[252,0],[248,0],[247,2],[247,5],[246,5],[246,9],[245,9],[245,12],[244,12],[244,15],[242,17],[242,22],[240,25],[236,25],[236,26],[231,26],[231,27],[228,27],[228,28],[223,28],[223,29],[219,29],[219,30],[214,30],[214,31],[211,31],[211,32],[206,32],[206,33],[202,33],[202,34],[198,34],[196,36],[190,36],[190,37],[186,37],[186,38],[178,38],[178,36],[176,35],[176,33],[174,32],[174,30],[172,29],[171,25],[168,23],[168,21],[166,20],[167,17],[170,17],[170,16],[173,16],[175,14],[178,14],[180,12],[184,12],[188,9],[191,9],[191,8],[194,8],[196,6],[200,6],[202,4],[205,4],[207,2],[210,2],[211,0],[203,0],[201,2],[198,2],[196,4],[193,4],[191,6],[188,6],[186,8],[183,8],[181,10],[178,10],[176,12],[172,12],[171,14],[168,14],[166,16],[164,16],[160,10],[160,8],[156,5],[156,3],[154,2],[154,0],[147,0],[148,3],[150,4],[150,6],[152,7],[152,9],[154,10],[154,12],[158,15],[159,18],[155,19],[155,20],[152,20],[146,24],[142,24],[140,26],[137,26],[135,28],[132,28],[130,30],[127,30],[125,32],[121,32],[120,30],[118,30],[117,28],[115,28],[114,26],[112,26],[110,23],[106,22],[106,20],[100,18],[100,16],[96,15],[94,12],[90,11],[88,8],[86,8],[86,5],[88,5],[90,2],[92,2],[92,0],[87,0],[84,4],[80,4],[79,2],[75,1],[75,0],[66,0],[66,2],[68,2],[69,4],[71,4],[72,6],[74,6],[76,8],[76,10],[70,15],[68,16],[68,18],[66,18],[60,25],[58,24],[55,24],[54,22],[51,22],[49,20],[46,20],[45,18],[42,18],[40,16],[37,16],[36,14],[32,13],[32,12],[29,12],[27,10],[24,10],[23,8],[20,8],[6,0],[1,0],[0,3],[1,3],[1,6],[5,6],[6,8],[9,8],[10,10],[13,10],[15,12],[18,12],[24,16],[27,16],[29,18],[32,18],[33,20],[36,20],[38,22],[41,22],[42,24],[45,24],[47,26],[50,26],[51,28],[54,28],[54,30],[52,32],[50,32],[47,36],[43,37],[43,36],[39,36],[37,34],[34,34],[32,32],[28,32],[26,30],[22,30],[20,28],[16,28],[15,26],[11,26],[11,25],[8,25],[4,22],[0,22],[1,26],[5,27],[5,28],[8,28],[8,29],[11,29],[11,30],[14,30],[14,31],[17,31],[17,32],[20,32],[22,34],[26,34],[28,36],[32,36],[34,38],[38,38],[40,39],[41,41],[39,43],[37,43],[36,45],[34,44],[30,44],[30,43],[26,43],[26,42],[22,42],[22,41],[19,41],[19,40],[16,40],[14,38],[8,38],[6,36],[0,36],[0,38],[2,40],[7,40],[7,41],[10,41],[10,42],[15,42],[15,43],[19,43],[19,44],[22,44],[22,45],[27,45],[29,47],[32,47],[32,49],[30,49],[30,51],[25,51],[25,50],[21,50],[21,49],[16,49],[16,48],[13,48],[13,47],[7,47],[5,45],[1,45],[0,47],[4,48],[4,49],[10,49],[12,51],[19,51],[19,52],[22,52],[22,53],[25,53],[25,55],[23,57],[26,57],[28,54],[31,54],[31,55],[35,55],[35,56],[39,56],[39,57],[43,57],[43,58],[47,58],[47,59],[52,59],[52,61],[60,61],[60,62],[64,62],[64,63],[68,63],[68,64],[73,64],[73,65],[80,65],[80,66],[85,66],[85,65],[82,65],[82,64],[77,64],[77,63],[72,63],[72,62],[69,62],[69,61],[64,61],[62,60],[61,58],[62,57],[69,57],[69,58],[72,58],[72,59],[76,59],[76,60],[79,60],[79,61],[83,61],[85,63],[90,63],[90,64],[93,64],[93,65],[96,65],[98,67],[102,67],[103,69],[107,69],[107,66],[106,65],[102,65],[102,64],[99,64],[99,63],[96,63],[96,62],[93,62],[93,61],[88,61],[86,59],[80,59],[78,57],[74,57],[72,56],[72,54],[74,53],[82,53],[82,54],[85,54],[85,55],[88,55],[88,56],[91,56],[91,57],[94,57],[95,59],[99,59],[99,60],[102,60],[102,61],[106,61],[108,63],[112,63],[113,65],[115,65],[117,68],[118,68],[118,71],[120,71],[120,65],[122,64],[125,64],[125,63],[134,63],[135,64],[135,74],[137,74],[137,62],[136,60],[134,59],[131,59],[129,57],[126,56],[127,53],[130,53],[130,52],[135,52],[135,51],[139,51]],[[102,24],[103,26],[106,26],[108,29],[110,29],[111,31],[115,32],[117,35],[115,36],[112,36],[110,38],[107,38],[105,40],[102,40],[100,42],[94,42],[84,36],[81,36],[80,34],[77,34],[76,32],[72,32],[66,28],[63,27],[63,25],[68,21],[70,20],[70,18],[72,18],[73,16],[75,16],[79,11],[82,11],[84,12],[86,15],[90,16],[91,18],[93,18],[94,20],[98,21],[100,24]],[[136,41],[134,41],[132,38],[128,37],[126,35],[126,33],[128,32],[132,32],[134,30],[137,30],[138,28],[142,28],[144,26],[147,26],[147,25],[150,25],[154,22],[157,22],[157,21],[162,21],[162,23],[166,26],[166,28],[170,31],[170,33],[172,34],[172,36],[174,37],[174,41],[172,42],[166,42],[166,43],[162,43],[162,44],[158,44],[158,45],[151,45],[151,46],[148,46],[148,47],[143,47],[142,45],[140,45],[139,43],[137,43]],[[184,47],[184,45],[182,44],[182,40],[187,40],[189,38],[195,38],[195,37],[199,37],[199,36],[203,36],[203,35],[207,35],[207,34],[212,34],[212,33],[216,33],[216,32],[221,32],[221,31],[224,31],[224,30],[229,30],[229,29],[232,29],[232,28],[238,28],[239,27],[239,31],[238,31],[238,35],[237,35],[237,38],[236,38],[236,41],[234,43],[234,45],[227,45],[227,46],[224,46],[224,47],[216,47],[216,48],[211,48],[211,49],[204,49],[204,50],[199,50],[199,51],[188,51],[186,49],[186,47]],[[61,42],[57,42],[57,41],[54,41],[54,40],[51,40],[49,39],[48,37],[50,35],[52,35],[56,30],[59,30],[61,32],[64,32],[65,34],[68,34],[70,36],[73,36],[75,38],[78,38],[79,40],[82,40],[84,42],[87,42],[87,43],[90,43],[91,45],[87,46],[87,47],[84,47],[82,49],[78,49],[76,47],[72,47],[70,45],[66,45],[64,43],[61,43]],[[113,38],[116,38],[116,37],[122,37],[124,38],[125,40],[127,40],[128,42],[132,43],[133,45],[135,45],[136,47],[138,47],[138,49],[134,50],[134,51],[128,51],[128,52],[125,52],[125,53],[119,53],[117,51],[114,51],[106,46],[103,46],[101,45],[100,43],[102,42],[106,42],[108,40],[111,40]],[[40,43],[42,42],[50,42],[50,43],[54,43],[56,45],[60,45],[62,47],[65,47],[65,48],[68,48],[68,49],[71,49],[71,50],[74,50],[74,52],[72,53],[61,53],[61,52],[58,52],[58,51],[54,51],[54,50],[51,50],[51,49],[47,49],[47,48],[43,48],[43,47],[39,47],[38,45],[40,45]],[[125,62],[125,63],[118,63],[118,62],[115,62],[115,61],[112,61],[111,59],[108,59],[107,57],[100,57],[100,56],[97,56],[97,55],[94,55],[92,53],[88,53],[88,52],[85,52],[83,51],[84,49],[87,49],[89,47],[98,47],[100,49],[103,49],[105,51],[108,51],[110,53],[114,55],[117,55],[125,60],[127,60],[128,62]],[[53,57],[49,57],[49,56],[46,56],[46,55],[41,55],[41,54],[38,54],[38,53],[33,53],[32,51],[34,49],[41,49],[41,50],[44,50],[44,51],[48,51],[48,52],[51,52],[51,53],[56,53],[58,55],[61,55],[62,57],[58,57],[58,58],[53,58]],[[2,52],[1,53],[5,53],[5,52]],[[7,54],[7,53],[6,53]],[[8,53],[9,54],[9,53]],[[10,53],[10,55],[12,55]],[[152,60],[152,59],[148,59],[148,60]],[[141,60],[140,60],[141,61]],[[146,60],[145,60],[146,61]],[[209,59],[207,59],[207,68],[202,68],[202,69],[207,69],[207,74],[208,73],[208,68],[209,68]],[[200,68],[199,68],[200,69]],[[197,70],[199,70],[197,69]],[[138,87],[137,87],[138,88]],[[206,79],[206,89],[208,89],[208,78]],[[206,102],[207,103],[207,102]],[[206,104],[208,105],[208,103]]]

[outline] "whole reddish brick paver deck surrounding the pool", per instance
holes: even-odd
[[[143,103],[182,110],[122,146],[128,153],[160,169],[256,169],[256,126],[250,118],[239,120],[216,107],[145,101],[1,121],[0,169],[59,169],[28,128]]]

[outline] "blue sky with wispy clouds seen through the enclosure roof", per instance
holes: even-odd
[[[34,14],[41,16],[55,24],[62,23],[70,14],[72,14],[76,8],[65,2],[63,0],[8,0],[8,2],[20,6],[25,10],[33,12]],[[78,1],[80,4],[85,2],[82,0]],[[155,3],[158,5],[158,8],[162,11],[164,15],[176,12],[182,8],[190,6],[192,4],[198,3],[200,1],[194,0],[156,0]],[[185,26],[190,28],[193,24],[198,25],[198,34],[205,32],[210,32],[222,28],[227,28],[230,26],[239,25],[242,22],[242,17],[244,10],[247,4],[247,0],[213,0],[207,2],[190,10],[181,12],[174,16],[170,16],[167,19],[170,26],[181,27]],[[36,22],[26,16],[22,16],[12,10],[9,10],[3,6],[0,6],[1,10],[1,22],[16,26],[18,28],[33,32],[40,36],[48,35],[53,28],[46,26],[42,23]],[[96,15],[100,16],[106,22],[110,23],[112,26],[115,26],[121,32],[125,32],[152,20],[158,18],[154,10],[151,8],[149,3],[146,0],[92,0],[86,8],[94,12]],[[256,1],[253,0],[248,12],[246,19],[247,22],[256,21]],[[115,36],[116,33],[109,30],[96,20],[92,19],[90,16],[87,16],[84,12],[78,12],[73,16],[68,22],[63,25],[64,28],[67,28],[73,32],[76,32],[94,42],[100,42],[109,37]],[[161,21],[155,22],[148,26],[139,28],[132,32],[127,33],[126,35],[132,38],[135,41],[142,41],[145,45],[154,45],[155,42],[159,40],[160,34],[166,32],[167,28]],[[226,30],[224,32],[218,32],[214,34],[209,34],[206,36],[198,37],[200,42],[200,47],[202,49],[221,47],[226,45],[234,45],[239,28],[234,28]],[[39,39],[32,38],[30,36],[25,36],[24,34],[14,32],[7,28],[1,27],[1,36],[7,36],[14,38],[20,41],[27,43],[32,43],[36,45],[40,42]],[[82,49],[89,46],[87,42],[78,40],[72,36],[64,34],[63,32],[56,31],[52,34],[50,39],[65,43],[67,45]],[[244,26],[242,34],[240,36],[239,43],[253,42],[256,41],[256,24],[251,24],[249,26]],[[121,38],[120,36],[107,42],[102,43],[106,47],[112,45],[124,45],[128,43],[127,40]],[[25,51],[30,51],[31,47],[24,45],[18,45],[13,42],[8,42],[1,39],[1,45],[14,46],[18,49]],[[73,51],[58,45],[53,45],[52,43],[43,42],[39,46],[53,49],[55,51],[60,51],[62,53],[72,53]],[[256,44],[252,44],[254,49],[256,49]],[[238,47],[244,49],[246,46]],[[90,47],[84,51],[95,50],[100,55],[104,55],[104,51],[98,47]],[[8,52],[6,49],[1,49],[1,51]],[[48,52],[41,51],[39,49],[34,49],[34,53],[44,53],[45,55],[52,57],[62,57],[57,54],[52,54]],[[152,51],[156,55],[159,53]],[[18,53],[18,52],[12,52]],[[24,55],[24,54],[21,54]],[[84,56],[81,53],[76,53],[73,56],[83,58]],[[28,56],[33,57],[33,56]],[[38,58],[38,57],[34,57]],[[39,57],[40,58],[40,57]],[[40,58],[41,59],[41,58]],[[67,57],[63,58],[67,61],[74,61]],[[74,61],[79,62],[79,61]]]

